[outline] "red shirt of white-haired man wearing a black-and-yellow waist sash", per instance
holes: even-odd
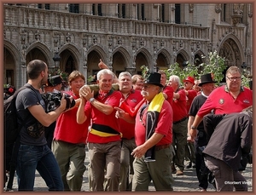
[[[100,100],[98,97],[96,97],[96,100],[108,106],[115,107],[115,106],[119,106],[119,102],[121,98],[122,98],[122,94],[119,91],[113,91],[111,95],[108,95],[103,100]],[[92,124],[96,123],[96,124],[107,125],[108,127],[116,131],[119,131],[119,120],[118,118],[115,118],[115,110],[113,110],[111,114],[106,115],[103,112],[96,109],[95,106],[91,106],[90,102],[87,101],[86,105],[84,106],[84,112],[86,116],[91,116],[91,118],[87,118],[87,120],[90,121],[91,119]],[[90,133],[90,131],[87,138],[87,141],[91,143],[108,143],[111,141],[120,141],[120,140],[121,140],[120,135],[102,137],[99,135],[93,135]]]

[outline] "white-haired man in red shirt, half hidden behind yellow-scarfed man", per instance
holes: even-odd
[[[172,173],[183,175],[185,147],[187,145],[187,125],[188,111],[186,107],[186,94],[183,89],[180,89],[180,78],[177,75],[172,75],[169,78],[169,84],[173,89],[172,110],[173,113],[173,138],[172,146],[176,148],[175,156],[172,159]],[[177,169],[175,168],[175,165]]]

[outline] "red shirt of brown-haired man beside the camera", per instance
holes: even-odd
[[[65,93],[72,95],[74,100],[78,99],[71,91],[65,91]],[[66,141],[73,144],[86,142],[90,121],[85,121],[82,124],[77,123],[77,111],[78,107],[75,107],[73,110],[61,113],[60,117],[57,118],[54,133],[55,141]]]

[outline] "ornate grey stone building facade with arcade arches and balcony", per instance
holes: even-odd
[[[26,64],[44,60],[88,77],[102,59],[117,75],[206,62],[253,64],[252,3],[3,4],[4,82],[26,83]],[[195,60],[196,59],[196,60]]]

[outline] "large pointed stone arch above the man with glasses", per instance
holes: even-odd
[[[218,54],[225,58],[227,66],[241,66],[245,55],[240,40],[233,34],[227,35],[219,43]]]

